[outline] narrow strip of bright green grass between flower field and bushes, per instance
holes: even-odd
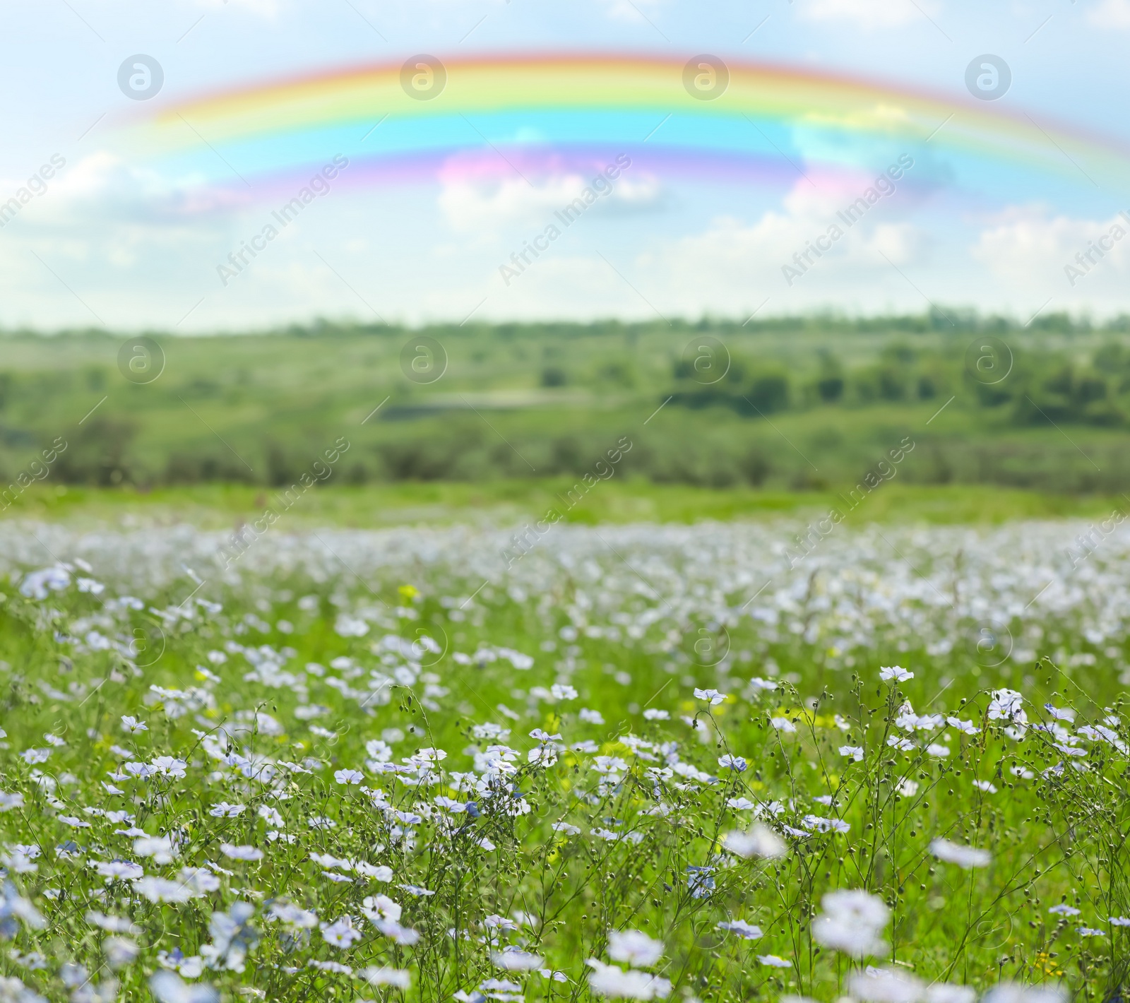
[[[824,515],[846,508],[835,491],[763,491],[653,485],[614,477],[601,481],[573,508],[564,496],[575,480],[541,479],[336,486],[311,490],[286,513],[281,527],[318,525],[358,529],[391,525],[481,523],[507,525],[540,517],[549,508],[566,522],[681,522],[771,520]],[[43,520],[166,525],[189,522],[229,529],[278,506],[278,492],[249,485],[180,488],[86,488],[40,485],[0,514],[0,521]],[[896,480],[871,492],[847,517],[852,525],[877,523],[967,523],[993,525],[1017,518],[1097,518],[1127,505],[1121,495],[1067,495],[976,485],[922,486]]]

